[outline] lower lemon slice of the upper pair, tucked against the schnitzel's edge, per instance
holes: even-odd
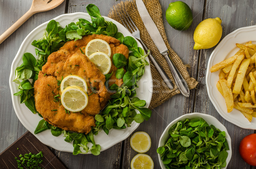
[[[108,54],[95,52],[89,56],[89,59],[99,68],[102,74],[108,74],[111,69],[111,59],[108,57]]]

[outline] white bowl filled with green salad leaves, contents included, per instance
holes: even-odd
[[[215,117],[190,113],[173,120],[164,130],[158,144],[162,169],[226,169],[230,162],[231,138],[226,127]]]

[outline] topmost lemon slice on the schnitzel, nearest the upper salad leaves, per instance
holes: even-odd
[[[108,57],[111,56],[111,48],[108,42],[102,39],[93,39],[85,47],[86,56],[90,56],[95,52],[104,52],[105,54],[108,55]]]

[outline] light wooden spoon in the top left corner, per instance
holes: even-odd
[[[26,22],[26,20],[28,20],[29,17],[31,17],[33,14],[54,9],[63,1],[64,0],[33,0],[29,11],[20,17],[19,20],[17,20],[9,29],[6,30],[6,32],[0,36],[0,44],[6,40],[6,38],[9,37],[13,32],[15,32],[16,29],[18,29],[24,22]]]

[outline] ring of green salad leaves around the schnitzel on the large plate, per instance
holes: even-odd
[[[52,126],[44,119],[39,121],[34,133],[38,134],[48,129],[51,130],[52,135],[55,137],[63,133],[66,142],[73,142],[73,155],[84,154],[89,151],[93,155],[99,155],[101,147],[95,143],[93,135],[97,135],[100,130],[108,134],[111,129],[125,129],[131,126],[133,121],[142,123],[151,117],[151,110],[144,107],[146,105],[145,100],[135,97],[135,89],[138,87],[137,81],[144,74],[145,66],[148,65],[145,60],[148,54],[144,54],[143,49],[137,46],[137,42],[133,37],[124,37],[122,33],[118,32],[114,23],[105,20],[97,6],[89,4],[86,9],[91,17],[91,22],[80,18],[78,22],[69,23],[62,28],[55,20],[49,21],[43,37],[32,42],[32,45],[36,47],[35,53],[38,59],[31,53],[23,54],[23,63],[15,69],[14,79],[18,83],[19,89],[14,95],[19,95],[20,103],[25,103],[35,114],[38,113],[34,99],[33,86],[35,80],[38,79],[38,73],[42,70],[42,66],[47,63],[49,54],[58,51],[64,43],[70,40],[79,40],[84,35],[103,34],[115,37],[120,40],[120,43],[128,46],[131,51],[128,59],[123,54],[114,54],[113,56],[113,64],[118,68],[115,76],[118,79],[122,79],[124,83],[120,87],[116,84],[108,86],[108,80],[113,72],[105,74],[106,87],[114,94],[105,109],[95,116],[96,126],[92,127],[91,132],[84,134],[65,131]],[[60,84],[61,80],[58,80],[57,85],[59,86]],[[59,95],[55,95],[53,99],[55,102],[61,101]],[[66,111],[66,113],[70,114],[69,111]],[[38,115],[42,117],[39,113]],[[93,146],[88,146],[88,143],[92,143]],[[81,149],[84,151],[81,151]]]

